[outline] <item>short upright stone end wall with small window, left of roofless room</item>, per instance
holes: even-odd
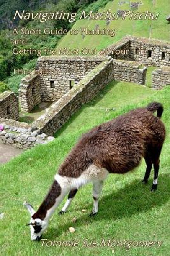
[[[39,75],[27,75],[21,80],[19,88],[21,111],[31,110],[41,102],[41,86]]]

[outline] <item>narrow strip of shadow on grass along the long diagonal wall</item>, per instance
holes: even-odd
[[[97,96],[95,96],[94,99],[92,99],[90,102],[85,103],[84,105],[82,105],[82,107],[80,107],[80,109],[78,109],[75,114],[72,115],[72,117],[64,124],[62,125],[62,128],[60,128],[55,134],[54,137],[57,138],[58,136],[60,136],[66,129],[67,127],[70,125],[70,123],[72,123],[80,114],[82,111],[84,111],[86,108],[88,107],[94,107],[99,101],[101,101],[103,99],[103,97],[106,95],[106,93],[108,93],[109,91],[111,91],[111,89],[118,83],[118,81],[113,81],[111,83],[108,83],[108,85],[103,88],[98,94]]]

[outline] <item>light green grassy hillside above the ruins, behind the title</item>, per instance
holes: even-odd
[[[109,10],[111,13],[116,13],[118,10],[130,10],[130,2],[130,0],[114,0],[109,2],[105,8],[100,8],[98,12],[106,12]],[[78,35],[70,35],[70,33],[68,33],[57,45],[57,49],[64,47],[70,49],[89,47],[97,48],[97,50],[100,50],[113,44],[114,42],[117,42],[118,40],[121,40],[125,35],[148,37],[169,41],[170,25],[167,23],[166,17],[169,15],[170,1],[164,0],[162,2],[161,0],[142,0],[140,2],[142,5],[139,6],[137,12],[142,13],[146,12],[147,10],[153,13],[159,12],[159,18],[155,21],[133,19],[129,20],[128,17],[125,20],[119,18],[118,20],[111,21],[108,26],[106,25],[106,20],[79,20],[72,27],[73,29],[80,30],[81,27],[95,29],[95,25],[98,24],[99,29],[115,29],[116,36],[111,37],[109,35],[85,35],[83,39],[80,33]],[[98,5],[99,4],[100,1],[98,1]]]

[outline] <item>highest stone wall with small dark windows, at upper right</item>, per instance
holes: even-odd
[[[147,66],[170,66],[170,43],[131,37],[131,58]]]

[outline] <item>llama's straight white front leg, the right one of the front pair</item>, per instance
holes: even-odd
[[[103,181],[94,181],[93,182],[93,210],[90,213],[90,216],[93,216],[98,213],[98,200],[100,197],[100,193],[102,191]]]

